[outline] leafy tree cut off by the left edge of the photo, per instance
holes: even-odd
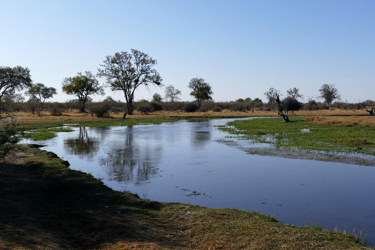
[[[30,88],[32,85],[30,70],[27,67],[0,66],[0,111],[3,110],[3,96]]]

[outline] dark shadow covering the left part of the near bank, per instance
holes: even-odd
[[[180,248],[152,223],[158,202],[116,192],[91,175],[28,159],[0,164],[0,248],[85,249],[117,242]]]

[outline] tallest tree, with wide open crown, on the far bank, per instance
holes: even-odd
[[[151,85],[162,86],[162,78],[154,69],[157,61],[144,52],[131,49],[131,52],[121,51],[107,55],[103,69],[98,69],[98,77],[105,77],[107,86],[112,91],[123,91],[127,112],[133,114],[134,92],[141,85],[149,88]]]

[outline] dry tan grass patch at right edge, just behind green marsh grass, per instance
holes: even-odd
[[[375,117],[373,116],[313,116],[305,118],[305,121],[323,125],[375,126]]]

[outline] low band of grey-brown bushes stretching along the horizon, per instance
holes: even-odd
[[[298,110],[322,110],[328,109],[326,103],[318,102],[316,100],[309,100],[308,102],[298,102],[299,104],[290,108],[290,111]],[[366,103],[375,105],[372,100],[367,100]],[[203,101],[201,107],[198,107],[197,102],[164,102],[164,101],[148,101],[139,100],[133,103],[133,107],[144,114],[156,111],[174,111],[174,112],[221,112],[227,109],[231,112],[253,112],[253,111],[277,111],[274,103],[263,102],[259,98],[255,99],[238,99],[230,102],[214,102]],[[349,103],[349,102],[333,102],[331,109],[363,109],[363,103]],[[25,102],[25,98],[17,94],[13,98],[3,100],[3,109],[7,112],[31,112],[40,114],[41,108],[39,102],[29,100]],[[49,111],[52,115],[61,115],[63,112],[69,112],[80,109],[80,102],[78,100],[67,100],[66,102],[46,102],[43,105],[43,111]],[[121,100],[114,100],[108,96],[100,102],[93,102],[89,99],[86,105],[86,112],[98,117],[109,117],[111,113],[118,114],[126,112],[126,102]]]

